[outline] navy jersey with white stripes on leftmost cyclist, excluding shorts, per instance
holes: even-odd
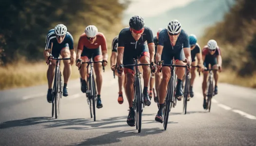
[[[56,35],[54,33],[54,29],[51,29],[46,36],[45,43],[46,43],[45,50],[51,49],[52,43],[56,47],[63,46],[62,44],[68,44],[70,50],[74,49],[74,39],[69,32],[67,32],[64,40],[59,44],[57,41]]]

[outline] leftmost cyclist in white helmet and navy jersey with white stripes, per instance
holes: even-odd
[[[62,58],[69,58],[70,60],[63,60],[64,70],[64,86],[63,86],[63,96],[68,96],[67,83],[71,74],[71,65],[74,64],[76,59],[76,53],[74,49],[74,39],[72,35],[67,32],[67,27],[63,24],[58,24],[54,29],[51,29],[46,36],[46,46],[44,50],[44,57],[46,63],[49,63],[50,54],[53,57],[58,58],[61,55]],[[51,60],[47,70],[47,80],[48,80],[48,92],[47,101],[52,102],[52,83],[54,78],[54,70],[56,66],[56,60]]]

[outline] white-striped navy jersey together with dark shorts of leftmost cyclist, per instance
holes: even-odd
[[[69,32],[66,33],[66,36],[64,37],[63,41],[61,43],[58,43],[54,29],[51,29],[46,36],[45,43],[45,50],[52,49],[51,54],[55,58],[59,57],[59,54],[63,48],[68,47],[69,50],[74,49],[74,39]]]

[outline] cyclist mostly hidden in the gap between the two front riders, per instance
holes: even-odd
[[[159,28],[159,29],[158,29],[158,32],[157,32],[157,36],[153,38],[154,43],[155,43],[155,52],[157,52],[158,37],[159,37],[159,33],[160,33],[161,30],[162,30],[162,28]],[[154,61],[155,61],[155,63],[157,63],[157,62],[156,62],[156,54],[155,54],[155,56],[154,56]],[[154,78],[155,78],[155,80],[154,80]],[[160,73],[159,71],[156,72],[156,73],[152,73],[152,74],[151,74],[151,78],[150,78],[150,82],[149,82],[149,85],[150,85],[149,97],[150,97],[150,100],[151,100],[151,98],[152,98],[152,93],[153,93],[152,89],[153,89],[153,86],[154,86],[154,84],[155,84],[156,91],[157,91],[157,96],[154,98],[154,101],[155,101],[155,102],[157,102],[157,100],[158,100],[158,86],[159,86],[160,80],[161,80],[161,73]]]

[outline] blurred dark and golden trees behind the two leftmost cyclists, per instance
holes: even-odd
[[[67,26],[75,47],[87,25],[104,33],[108,47],[122,28],[128,0],[0,0],[0,64],[43,58],[45,37],[57,24]]]

